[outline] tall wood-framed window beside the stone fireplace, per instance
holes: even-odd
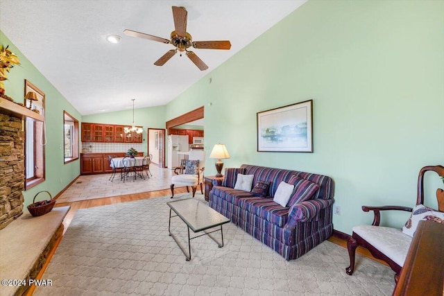
[[[35,96],[26,96],[28,93],[34,93]],[[25,97],[31,99],[25,99],[24,105],[44,117],[44,92],[28,80],[25,80]],[[45,145],[44,121],[27,119],[25,121],[25,190],[44,182]]]

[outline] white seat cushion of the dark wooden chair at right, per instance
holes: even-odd
[[[355,226],[355,234],[402,267],[409,252],[411,237],[401,229],[382,226]]]

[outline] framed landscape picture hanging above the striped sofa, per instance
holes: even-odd
[[[313,100],[257,112],[257,152],[313,153]]]

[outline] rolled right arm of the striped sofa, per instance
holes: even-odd
[[[305,202],[294,204],[289,209],[289,220],[285,228],[294,228],[298,222],[307,222],[315,218],[321,210],[331,207],[333,202],[334,199],[330,198],[328,200],[306,200]]]

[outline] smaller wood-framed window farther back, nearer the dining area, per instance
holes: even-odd
[[[78,159],[78,121],[63,112],[63,151],[65,164]]]

